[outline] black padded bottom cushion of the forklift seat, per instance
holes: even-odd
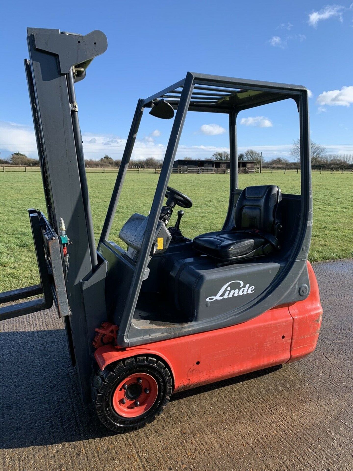
[[[193,240],[193,248],[218,260],[244,257],[266,244],[261,235],[236,231],[208,232]]]

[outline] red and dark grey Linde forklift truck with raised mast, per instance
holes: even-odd
[[[189,72],[139,99],[96,247],[74,84],[104,53],[106,37],[28,28],[27,41],[47,206],[46,216],[29,210],[40,284],[1,293],[0,319],[54,302],[83,401],[93,400],[100,421],[120,433],[152,422],[173,392],[311,353],[322,309],[307,261],[313,220],[307,90]],[[282,194],[275,185],[241,190],[237,115],[286,99],[299,113],[301,194]],[[121,228],[125,250],[109,232],[145,109],[174,121],[151,211],[132,214]],[[181,223],[193,203],[168,186],[187,112],[227,114],[230,138],[224,225],[193,240]],[[182,209],[170,227],[176,207]],[[31,299],[8,304],[25,298]]]

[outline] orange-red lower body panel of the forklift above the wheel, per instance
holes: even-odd
[[[319,287],[307,264],[310,294],[305,300],[210,332],[130,348],[104,345],[95,352],[99,368],[128,357],[160,357],[170,368],[177,392],[299,360],[315,349],[322,318]]]

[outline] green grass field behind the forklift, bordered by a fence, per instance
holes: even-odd
[[[132,213],[148,213],[158,177],[154,174],[127,176],[111,240],[119,243],[120,227]],[[103,226],[115,178],[116,175],[88,174],[96,238]],[[194,237],[222,227],[228,207],[228,175],[171,175],[169,184],[190,196],[194,203],[185,211],[182,220],[181,227],[186,236]],[[300,175],[240,176],[241,188],[265,184],[277,184],[283,193],[299,193]],[[352,174],[313,174],[311,261],[352,257],[352,194]],[[45,212],[40,173],[0,174],[0,292],[39,281],[27,213],[27,208],[32,207]]]

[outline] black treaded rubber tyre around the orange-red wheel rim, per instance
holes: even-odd
[[[137,417],[123,417],[113,407],[112,398],[119,384],[132,374],[148,374],[158,385],[153,405]],[[148,391],[147,391],[148,392]],[[172,393],[172,378],[166,365],[153,357],[127,358],[99,370],[92,376],[92,400],[99,420],[110,430],[126,433],[151,423],[160,415]]]

